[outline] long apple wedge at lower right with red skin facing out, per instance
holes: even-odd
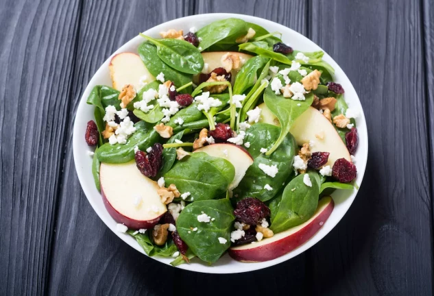
[[[243,262],[263,262],[283,256],[314,236],[330,217],[334,207],[331,197],[323,197],[318,202],[315,214],[308,221],[260,242],[230,247],[228,253],[235,260]]]

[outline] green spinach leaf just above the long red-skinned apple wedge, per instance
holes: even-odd
[[[282,201],[270,226],[274,233],[300,225],[315,213],[320,195],[320,178],[315,171],[308,174],[312,186],[304,184],[304,174],[302,174],[289,182],[283,190]]]

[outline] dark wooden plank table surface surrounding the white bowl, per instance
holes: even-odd
[[[167,267],[88,203],[72,130],[89,79],[173,18],[235,12],[311,38],[365,110],[365,179],[343,220],[287,262],[236,275]],[[432,0],[0,0],[0,295],[432,295]]]

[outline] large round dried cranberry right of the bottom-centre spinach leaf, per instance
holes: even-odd
[[[269,216],[269,208],[259,199],[248,197],[237,202],[234,215],[237,221],[249,225],[256,225]]]

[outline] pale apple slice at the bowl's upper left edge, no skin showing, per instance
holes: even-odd
[[[118,53],[108,65],[113,88],[122,90],[125,84],[132,84],[136,90],[141,88],[141,80],[149,83],[155,77],[147,70],[145,64],[136,53]],[[144,79],[145,78],[145,79]]]

